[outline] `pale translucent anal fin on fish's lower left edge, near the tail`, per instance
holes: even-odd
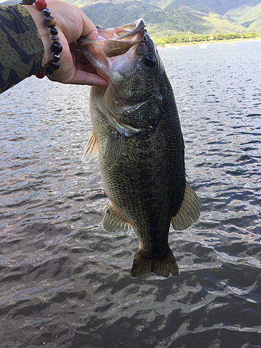
[[[116,212],[111,202],[106,209],[102,227],[108,232],[127,232],[128,230],[132,230],[131,226]]]

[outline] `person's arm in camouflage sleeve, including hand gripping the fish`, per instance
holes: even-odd
[[[107,86],[108,82],[97,74],[77,46],[81,36],[97,40],[95,25],[70,3],[48,1],[48,8],[56,19],[63,50],[60,68],[47,77],[63,84]],[[0,42],[0,92],[42,70],[54,58],[45,15],[34,5],[0,6]]]

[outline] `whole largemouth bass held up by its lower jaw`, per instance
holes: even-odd
[[[102,226],[134,230],[139,249],[131,275],[178,276],[168,245],[172,224],[198,220],[200,203],[187,182],[184,140],[173,88],[144,20],[104,29],[78,45],[107,87],[90,88],[93,131],[81,160],[99,156],[109,198]]]

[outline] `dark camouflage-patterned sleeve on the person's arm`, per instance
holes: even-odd
[[[0,93],[45,66],[45,50],[22,5],[0,6]]]

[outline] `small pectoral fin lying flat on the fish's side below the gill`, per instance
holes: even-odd
[[[102,164],[104,169],[109,171],[118,162],[125,145],[125,135],[118,132],[111,132],[104,144],[104,156]]]

